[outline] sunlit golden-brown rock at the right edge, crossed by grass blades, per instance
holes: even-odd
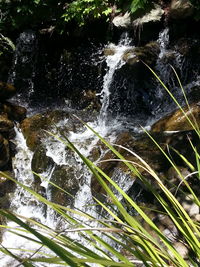
[[[188,118],[195,124],[200,125],[200,105],[193,104],[188,110],[187,107],[184,108],[185,114]],[[158,122],[154,123],[151,127],[152,132],[163,132],[163,131],[186,131],[192,130],[193,127],[188,122],[186,116],[182,111],[177,110],[167,115],[166,117],[160,119]]]

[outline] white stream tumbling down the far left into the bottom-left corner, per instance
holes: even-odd
[[[17,146],[17,153],[16,156],[13,158],[13,170],[16,179],[23,185],[31,188],[34,183],[34,177],[31,171],[32,152],[27,148],[26,141],[21,131],[19,131],[17,128],[15,129],[15,131],[15,143]],[[34,218],[39,222],[45,223],[43,206],[21,186],[17,186],[15,190],[14,196],[10,204],[10,209],[21,216],[25,216],[27,218]],[[7,226],[10,227],[13,232],[20,234],[20,230],[17,230],[19,229],[19,226],[14,222],[8,222]],[[37,250],[39,248],[39,245],[37,245],[36,243],[30,243],[28,241],[25,241],[24,238],[13,234],[9,230],[7,230],[3,234],[2,245],[8,249],[21,249],[22,252],[18,251],[19,256],[23,253],[24,249],[32,250],[34,252],[34,250]],[[27,252],[27,255],[30,255],[32,253]],[[5,254],[2,253],[0,253],[0,262],[1,266],[11,266],[17,263],[11,257],[5,256]]]

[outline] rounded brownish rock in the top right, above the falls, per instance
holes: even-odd
[[[172,0],[169,10],[169,17],[172,19],[185,19],[191,17],[194,7],[189,0]]]

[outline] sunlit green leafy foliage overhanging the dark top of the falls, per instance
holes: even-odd
[[[0,31],[49,27],[62,31],[71,21],[82,26],[102,18],[109,20],[119,11],[134,14],[144,11],[149,3],[149,0],[2,0]]]

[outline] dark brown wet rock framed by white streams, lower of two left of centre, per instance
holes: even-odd
[[[63,192],[59,188],[50,184],[49,192],[51,201],[63,206],[72,204],[73,197],[79,189],[75,168],[64,165],[57,166],[50,181],[66,191]]]

